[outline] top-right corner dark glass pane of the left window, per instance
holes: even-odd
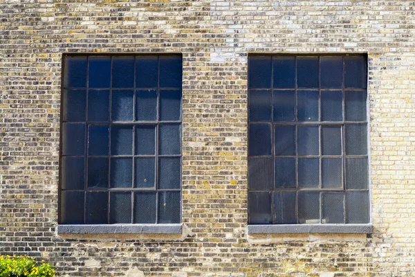
[[[160,87],[181,88],[182,57],[160,56]]]

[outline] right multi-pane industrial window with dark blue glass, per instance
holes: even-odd
[[[250,55],[250,224],[369,222],[367,57]]]

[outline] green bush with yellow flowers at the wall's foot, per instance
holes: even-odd
[[[29,256],[0,256],[0,277],[53,277],[55,269]]]

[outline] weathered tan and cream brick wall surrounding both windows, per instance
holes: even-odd
[[[60,276],[415,276],[415,2],[0,0],[0,253]],[[62,53],[183,53],[183,235],[57,235]],[[368,53],[373,235],[248,235],[248,53]]]

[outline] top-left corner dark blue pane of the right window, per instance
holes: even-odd
[[[250,88],[271,87],[271,56],[250,56],[248,61],[248,84]]]

